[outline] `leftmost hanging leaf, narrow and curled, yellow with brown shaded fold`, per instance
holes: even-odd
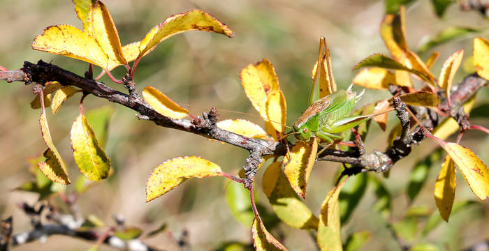
[[[44,143],[48,146],[48,150],[44,152],[46,157],[45,162],[38,163],[39,169],[45,176],[51,181],[61,184],[71,183],[66,172],[66,165],[64,164],[61,155],[59,155],[56,146],[52,142],[51,134],[49,132],[48,120],[46,119],[45,111],[41,113],[39,117],[39,124],[41,125],[41,135],[43,135]]]

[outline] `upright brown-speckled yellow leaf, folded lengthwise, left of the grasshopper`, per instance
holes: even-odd
[[[263,59],[254,65],[249,64],[241,70],[240,77],[246,96],[260,116],[265,119],[268,134],[277,139],[275,130],[284,132],[284,126],[279,123],[284,124],[286,121],[286,104],[272,63]]]

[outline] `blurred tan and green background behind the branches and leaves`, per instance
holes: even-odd
[[[351,84],[356,74],[351,69],[361,59],[376,52],[388,54],[379,33],[379,24],[384,17],[384,1],[107,0],[104,3],[117,25],[122,45],[141,40],[149,29],[163,22],[169,15],[193,8],[211,13],[233,29],[233,39],[198,31],[173,36],[160,43],[154,52],[140,61],[135,76],[138,89],[154,86],[188,107],[194,115],[217,107],[221,119],[242,118],[263,126],[263,121],[256,117],[258,112],[253,109],[242,90],[239,75],[240,70],[249,63],[266,58],[275,66],[287,100],[287,122],[291,124],[307,107],[312,83],[310,75],[317,60],[320,36],[327,38],[333,73],[338,87],[342,89]],[[3,10],[0,15],[1,66],[17,69],[22,67],[24,61],[36,62],[42,59],[79,75],[85,73],[85,62],[34,51],[30,46],[34,36],[42,33],[47,26],[72,24],[82,28],[71,1],[0,0],[0,6]],[[448,26],[481,29],[477,36],[488,37],[489,23],[486,19],[474,11],[461,11],[457,4],[450,6],[444,17],[439,18],[430,1],[416,1],[407,9],[406,20],[407,43],[414,51],[428,39],[427,36],[435,36]],[[465,59],[470,60],[474,36],[476,35],[471,34],[439,45],[420,56],[425,60],[433,51],[441,53],[432,69],[437,76],[443,61],[457,50],[464,49]],[[461,66],[462,70],[458,71],[455,82],[474,72],[472,63],[468,62]],[[114,74],[121,77],[124,74],[122,70],[117,68]],[[99,72],[100,69],[97,68],[95,75]],[[124,91],[122,86],[114,84],[106,77],[101,81]],[[358,86],[354,89],[361,90]],[[386,98],[388,93],[367,90],[363,97],[359,106]],[[14,234],[31,229],[29,219],[15,204],[22,201],[34,203],[37,200],[35,194],[14,189],[31,179],[27,158],[45,150],[39,133],[40,110],[29,107],[33,98],[31,86],[24,86],[20,82],[0,83],[0,216],[6,218],[13,215]],[[489,98],[489,91],[484,89],[477,96],[476,107],[487,102],[486,98]],[[147,121],[138,121],[134,116],[135,112],[108,104],[106,100],[94,96],[85,99],[85,111],[105,105],[109,105],[114,111],[105,150],[112,159],[115,172],[108,181],[96,183],[80,195],[78,205],[81,215],[94,214],[107,222],[111,221],[112,215],[124,215],[128,225],[147,231],[166,222],[166,233],[144,239],[145,243],[166,250],[175,250],[176,247],[172,246],[172,235],[179,238],[183,231],[188,231],[191,250],[214,250],[225,241],[251,241],[249,226],[235,220],[226,204],[225,194],[229,185],[227,179],[191,179],[167,195],[145,203],[147,177],[164,160],[199,155],[217,163],[226,172],[237,174],[247,158],[247,151],[210,142],[189,133],[154,126]],[[69,131],[71,123],[78,116],[78,98],[68,100],[57,116],[52,116],[49,110],[48,121],[54,143],[70,167],[68,173],[73,181],[79,172],[71,158]],[[247,112],[255,116],[224,110]],[[394,116],[391,121],[395,121]],[[487,119],[476,118],[472,122],[489,126]],[[367,151],[383,151],[387,146],[387,133],[382,133],[373,123],[371,130],[365,142]],[[462,144],[488,162],[487,135],[482,132],[467,132]],[[414,163],[435,147],[435,144],[427,140],[416,147],[409,158],[398,162],[389,178],[377,174],[392,193],[392,222],[402,218],[409,205],[423,205],[431,211],[436,210],[432,190],[439,165],[430,169],[427,183],[412,204],[405,194],[407,177]],[[332,188],[339,168],[340,165],[333,162],[319,162],[314,167],[305,200],[314,213],[319,212],[321,202]],[[258,184],[261,182],[261,175],[263,170],[258,172]],[[455,201],[477,200],[462,176],[458,175]],[[67,189],[73,190],[70,186]],[[268,205],[260,190],[257,196],[261,204]],[[386,225],[381,223],[381,217],[372,211],[373,203],[373,192],[367,190],[342,231],[349,233],[369,230],[372,238],[363,250],[400,250]],[[442,223],[425,241],[458,250],[489,238],[489,204],[486,202],[484,205],[453,215],[448,224]],[[290,250],[315,249],[314,240],[307,231],[292,229],[286,225],[279,225],[279,229],[284,236],[284,244]],[[85,250],[91,245],[92,243],[65,236],[52,236],[42,245],[34,242],[16,250],[50,250],[54,247],[58,250]],[[104,246],[102,250],[111,249]]]

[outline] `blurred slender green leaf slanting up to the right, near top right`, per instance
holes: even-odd
[[[432,1],[437,1],[437,0],[432,0]],[[439,1],[445,1],[445,0],[439,0]],[[450,2],[453,2],[451,0],[448,0]],[[468,27],[458,27],[458,26],[450,26],[443,31],[440,31],[437,33],[437,36],[435,38],[431,38],[428,40],[423,40],[425,41],[418,47],[418,52],[423,53],[428,50],[430,50],[432,47],[435,47],[437,45],[441,45],[444,43],[448,43],[450,41],[459,39],[459,38],[468,38],[470,35],[473,33],[477,33],[479,30],[477,29],[472,29]]]

